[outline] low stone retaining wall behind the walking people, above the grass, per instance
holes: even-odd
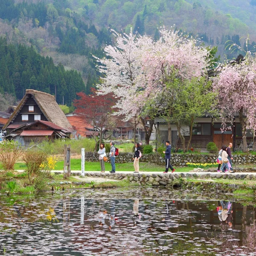
[[[109,156],[109,153],[107,153]],[[131,163],[133,162],[133,153],[119,153],[116,157],[116,163]],[[172,154],[171,164],[173,166],[186,166],[186,163],[215,163],[218,154]],[[256,163],[256,155],[233,155],[233,163],[236,165]],[[96,162],[99,161],[99,154],[93,152],[85,153],[85,161]],[[156,163],[158,165],[165,164],[165,160],[160,154],[143,154],[140,162]]]

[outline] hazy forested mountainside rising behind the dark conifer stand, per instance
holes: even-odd
[[[249,35],[248,48],[254,50],[255,13],[256,0],[1,0],[0,36],[15,47],[32,45],[41,55],[52,57],[54,64],[61,62],[65,70],[80,71],[86,84],[83,90],[88,93],[99,80],[92,55],[103,56],[102,46],[111,44],[110,28],[128,32],[133,27],[134,32],[147,33],[157,39],[160,26],[175,26],[192,35],[198,34],[206,45],[218,46],[217,55],[224,60],[225,56],[230,59],[241,53],[225,49],[228,40],[246,48],[244,41]],[[9,58],[7,55],[5,58]],[[52,61],[50,63],[48,72]],[[23,81],[23,72],[27,72],[25,66],[19,73],[20,81]],[[31,69],[34,69],[33,64]],[[41,67],[35,69],[35,79],[38,79],[43,71],[40,73]],[[67,71],[67,74],[72,72]],[[20,98],[23,84],[18,84],[12,73],[9,76]],[[64,76],[64,80],[70,91],[69,79]],[[36,88],[42,86],[42,90],[48,88],[50,93],[55,93],[52,85],[40,85],[39,81]],[[2,90],[7,90],[6,85]],[[8,90],[13,91],[12,85]],[[59,103],[64,96],[64,104],[70,105],[73,92],[71,96],[62,90],[56,93]]]

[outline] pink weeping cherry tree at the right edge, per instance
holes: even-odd
[[[233,62],[222,67],[214,81],[213,89],[218,93],[222,118],[229,117],[232,122],[235,116],[239,116],[244,151],[247,151],[247,131],[253,131],[254,135],[256,130],[255,87],[256,59],[250,54],[241,63]]]

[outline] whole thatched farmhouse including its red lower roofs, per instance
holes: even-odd
[[[7,131],[7,140],[15,140],[22,146],[67,138],[73,133],[55,97],[37,90],[26,90],[3,129]]]

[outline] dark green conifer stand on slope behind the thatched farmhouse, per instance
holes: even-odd
[[[55,66],[52,58],[41,56],[32,46],[15,47],[0,38],[0,93],[21,99],[29,88],[56,95],[59,104],[71,105],[85,86],[76,70]]]

